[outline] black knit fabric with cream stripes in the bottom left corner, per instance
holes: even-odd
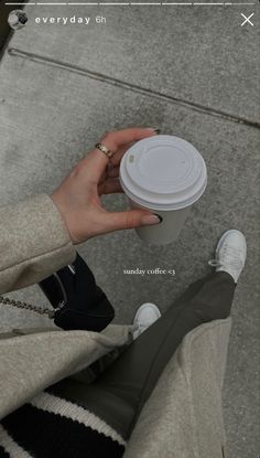
[[[0,423],[0,458],[121,458],[124,447],[102,419],[46,392]]]

